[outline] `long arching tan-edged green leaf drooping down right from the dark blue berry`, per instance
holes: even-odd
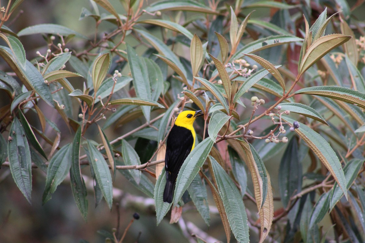
[[[283,117],[284,120],[293,124],[294,120],[289,117]],[[340,185],[345,197],[347,199],[346,179],[343,174],[341,162],[338,160],[335,152],[326,140],[308,126],[299,122],[299,128],[295,129],[301,138],[307,143],[311,150],[318,156],[320,161],[331,172],[334,179]]]

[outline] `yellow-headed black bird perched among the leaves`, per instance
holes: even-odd
[[[172,203],[177,174],[181,165],[195,147],[196,133],[193,127],[195,119],[203,115],[201,110],[181,111],[172,126],[166,142],[165,171],[166,185],[164,202]]]

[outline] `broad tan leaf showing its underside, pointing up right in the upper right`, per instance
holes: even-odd
[[[350,40],[351,36],[333,34],[322,36],[315,40],[308,48],[306,54],[303,56],[303,60],[298,68],[299,74],[303,74],[309,67],[321,59],[324,55],[330,52],[332,49],[341,46],[343,43]]]

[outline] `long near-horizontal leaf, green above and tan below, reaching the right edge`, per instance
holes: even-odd
[[[300,89],[296,91],[295,94],[320,95],[365,108],[365,94],[345,87],[314,86]]]

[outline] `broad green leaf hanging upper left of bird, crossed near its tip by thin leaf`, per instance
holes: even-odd
[[[151,86],[148,77],[148,71],[146,62],[144,59],[139,58],[137,52],[127,44],[127,53],[128,53],[128,63],[131,69],[132,77],[133,77],[133,86],[136,91],[136,94],[140,98],[151,99]],[[147,106],[142,106],[143,114],[147,122],[150,121],[150,113],[151,108]]]

